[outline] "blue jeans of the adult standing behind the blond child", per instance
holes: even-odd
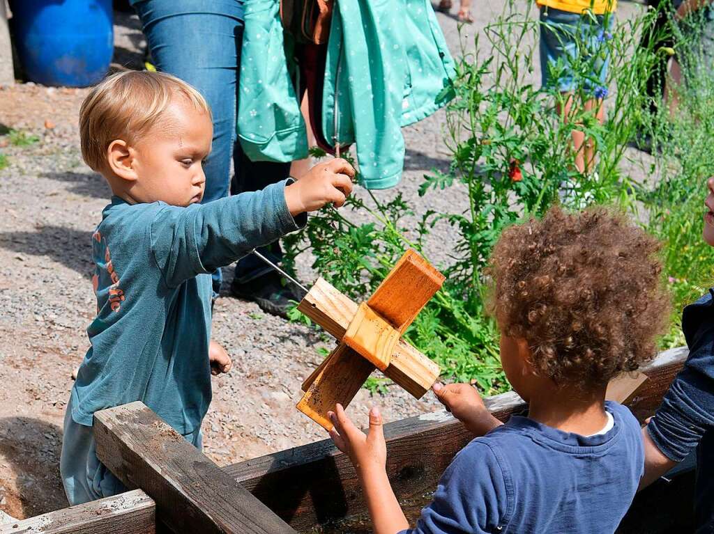
[[[198,89],[213,113],[213,148],[203,171],[203,202],[228,196],[231,154],[233,195],[263,189],[287,178],[289,163],[253,163],[236,143],[238,73],[243,41],[242,0],[131,0],[144,27],[151,56],[159,71],[181,78]],[[276,252],[277,251],[277,252]],[[272,257],[280,260],[280,245]],[[238,262],[236,276],[254,278],[263,265],[248,256]],[[213,273],[213,291],[221,287],[221,270]]]

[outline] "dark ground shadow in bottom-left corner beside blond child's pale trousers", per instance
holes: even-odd
[[[67,504],[59,476],[62,430],[29,417],[0,419],[1,460],[16,476],[16,485],[4,485],[3,508],[18,518],[65,508]]]

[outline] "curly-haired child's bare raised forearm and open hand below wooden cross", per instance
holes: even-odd
[[[382,417],[377,408],[369,412],[369,432],[365,434],[348,418],[341,404],[328,412],[335,428],[330,437],[348,455],[357,471],[375,534],[396,534],[409,528],[386,472],[387,446]]]

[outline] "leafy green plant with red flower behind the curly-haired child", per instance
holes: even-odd
[[[554,203],[571,209],[605,203],[634,214],[648,212],[652,202],[659,202],[659,193],[648,190],[646,180],[623,171],[624,163],[632,163],[626,159],[628,143],[643,125],[653,124],[644,111],[646,80],[658,57],[669,53],[658,47],[657,39],[638,46],[643,32],[651,31],[655,11],[643,10],[620,21],[611,33],[598,36],[594,50],[590,42],[588,52],[569,65],[576,78],[584,79],[591,76],[595,62],[609,55],[608,80],[598,88],[600,96],[609,90],[603,125],[585,106],[593,96],[582,86],[575,88],[573,106],[563,120],[568,96],[531,83],[537,45],[530,37],[539,22],[528,13],[522,4],[509,1],[486,27],[486,58],[464,47],[457,60],[456,97],[446,111],[444,134],[451,165],[446,172],[426,175],[419,194],[458,187],[466,192],[465,210],[430,210],[417,225],[408,225],[415,214],[402,195],[366,191],[346,204],[358,217],[328,209],[311,217],[305,232],[287,240],[288,263],[311,250],[313,268],[359,299],[376,288],[403,250],[412,247],[423,253],[433,228],[443,222],[451,225],[455,237],[450,260],[439,265],[446,283],[406,338],[437,361],[444,379],[474,381],[486,394],[508,388],[498,359],[498,328],[488,315],[486,269],[503,228],[523,217],[539,217]],[[477,51],[482,50],[479,44]],[[585,48],[585,43],[580,46]],[[575,170],[574,130],[597,147],[592,172]],[[674,330],[664,340],[677,341]],[[376,383],[369,388],[378,391]]]

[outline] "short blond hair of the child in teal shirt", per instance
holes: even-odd
[[[101,81],[79,110],[79,136],[86,164],[101,172],[109,144],[116,139],[136,143],[161,123],[161,115],[176,95],[211,115],[201,93],[166,73],[129,71]]]

